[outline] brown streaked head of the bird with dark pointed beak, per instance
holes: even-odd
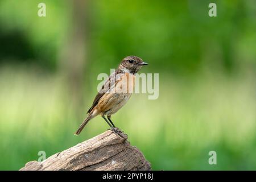
[[[143,62],[143,60],[140,57],[127,56],[119,64],[118,68],[121,69],[123,72],[137,73],[143,65],[148,64]]]

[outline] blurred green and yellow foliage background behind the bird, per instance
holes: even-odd
[[[46,17],[38,4],[46,3]],[[210,18],[208,5],[217,4]],[[0,1],[0,169],[16,170],[108,129],[73,135],[97,75],[127,55],[159,73],[159,98],[134,94],[115,125],[155,170],[256,169],[256,2]],[[209,165],[209,151],[217,165]]]

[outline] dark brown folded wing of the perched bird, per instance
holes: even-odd
[[[98,92],[98,94],[94,98],[93,104],[90,107],[90,109],[87,111],[87,114],[90,113],[90,111],[92,111],[93,108],[98,104],[98,101],[100,101],[101,97],[104,96],[104,94],[108,92],[115,85],[115,82],[116,82],[115,79],[118,80],[118,78],[115,78],[115,76],[117,76],[119,73],[122,73],[120,69],[115,70],[115,72],[113,72],[109,76],[108,80],[105,81],[105,83],[102,85],[100,92]]]

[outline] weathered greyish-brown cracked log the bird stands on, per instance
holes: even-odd
[[[28,162],[20,170],[150,170],[150,163],[127,135],[106,131],[94,138],[50,156],[43,162]]]

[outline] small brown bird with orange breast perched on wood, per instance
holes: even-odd
[[[110,119],[111,115],[121,109],[131,97],[129,90],[133,90],[135,73],[137,73],[143,65],[147,65],[147,63],[144,63],[143,60],[137,56],[127,56],[121,61],[118,69],[109,76],[100,92],[98,92],[97,96],[94,98],[92,106],[87,111],[89,114],[88,117],[82,122],[75,135],[79,135],[90,119],[99,114],[105,119],[111,129],[116,132],[115,125]],[[126,86],[124,88],[126,92],[120,92],[120,90],[123,91],[124,82],[125,84],[127,83],[127,88]],[[105,115],[108,119],[106,119]]]

